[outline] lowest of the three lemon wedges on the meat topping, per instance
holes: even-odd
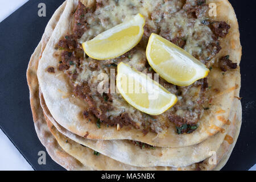
[[[130,105],[150,115],[162,114],[177,102],[174,94],[125,63],[117,67],[117,88]]]

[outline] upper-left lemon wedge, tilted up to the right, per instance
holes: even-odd
[[[141,41],[144,25],[144,17],[137,14],[129,22],[118,24],[92,40],[82,43],[82,47],[93,59],[113,59],[130,51]]]

